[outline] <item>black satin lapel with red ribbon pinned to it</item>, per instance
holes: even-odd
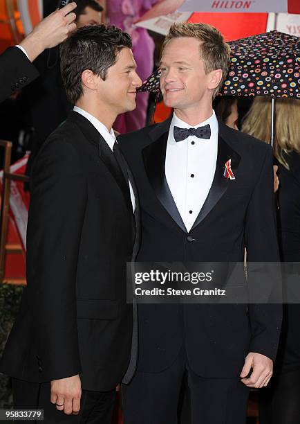
[[[232,159],[232,172],[236,171],[238,168],[238,164],[241,160],[240,155],[233,150],[223,139],[223,137],[218,135],[218,156],[216,160],[216,171],[214,173],[214,179],[212,182],[212,187],[209,190],[209,193],[207,195],[207,198],[203,204],[202,209],[200,210],[193,227],[191,227],[191,230],[193,230],[198,224],[200,224],[201,221],[204,220],[204,218],[207,216],[207,214],[212,211],[214,206],[218,203],[218,201],[221,199],[221,197],[224,195],[225,191],[227,190],[229,184],[232,184],[232,180],[227,179],[224,177],[224,171],[225,171],[225,162],[228,159]]]

